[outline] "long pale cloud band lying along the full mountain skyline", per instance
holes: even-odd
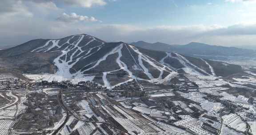
[[[20,20],[0,22],[0,44],[22,44],[28,40],[58,39],[74,34],[89,34],[105,41],[163,42],[167,44],[207,44],[236,46],[256,44],[256,24],[236,24],[229,27],[218,25],[191,26],[144,26],[112,24],[84,25],[47,20]]]

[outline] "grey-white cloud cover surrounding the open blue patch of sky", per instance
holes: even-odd
[[[62,6],[97,8],[115,0],[1,0],[0,45],[89,34],[105,41],[202,42],[226,46],[256,44],[256,23],[222,25],[104,24],[97,16],[68,13]],[[255,0],[225,0],[243,2]],[[118,0],[116,1],[118,2]],[[62,6],[57,6],[58,4]],[[101,22],[102,21],[102,22]]]

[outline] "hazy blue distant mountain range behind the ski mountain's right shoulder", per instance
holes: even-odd
[[[135,45],[136,47],[150,50],[177,52],[186,56],[194,56],[212,60],[244,60],[248,58],[256,58],[256,51],[252,49],[223,47],[196,42],[186,45],[170,45],[160,42],[151,44],[144,41],[138,41],[131,44]]]

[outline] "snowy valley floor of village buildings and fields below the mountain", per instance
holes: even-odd
[[[254,132],[255,97],[222,79],[177,75],[170,85],[131,80],[0,79],[0,135],[243,135]],[[238,90],[237,90],[238,91]],[[22,124],[21,124],[22,123]]]

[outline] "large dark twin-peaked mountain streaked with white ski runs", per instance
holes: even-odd
[[[44,79],[91,80],[112,87],[131,79],[164,83],[178,73],[214,79],[241,67],[137,48],[123,42],[106,43],[85,34],[59,40],[31,40],[0,51],[0,67],[25,73],[49,73]]]

